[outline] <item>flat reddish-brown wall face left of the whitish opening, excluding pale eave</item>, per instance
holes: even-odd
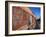
[[[29,16],[20,7],[12,7],[12,30],[28,25]]]

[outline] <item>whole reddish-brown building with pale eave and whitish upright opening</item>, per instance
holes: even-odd
[[[36,26],[35,15],[27,7],[12,7],[12,30],[30,30]]]

